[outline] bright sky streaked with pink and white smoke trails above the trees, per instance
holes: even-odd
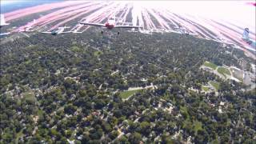
[[[49,2],[54,2],[53,4]],[[225,40],[244,46],[240,42],[244,28],[250,29],[250,38],[255,39],[255,6],[253,1],[3,1],[10,8],[4,13],[6,21],[29,18],[31,14],[40,14],[52,10],[50,14],[41,14],[35,18],[33,26],[47,26],[54,30],[58,26],[73,21],[104,23],[110,17],[118,17],[122,22],[131,22],[142,26],[143,30],[174,30],[181,25],[190,34],[199,34],[201,38]],[[26,7],[27,6],[27,7]],[[59,9],[59,10],[58,10]],[[93,12],[93,14],[90,14]],[[89,15],[88,15],[89,14]],[[131,18],[131,19],[130,19]],[[13,32],[24,30],[18,26]],[[57,23],[56,23],[57,22]],[[54,24],[53,26],[51,24]],[[86,30],[75,25],[71,30]],[[254,50],[254,49],[251,49]]]

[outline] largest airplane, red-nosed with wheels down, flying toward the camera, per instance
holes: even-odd
[[[106,27],[108,30],[112,30],[113,28],[142,28],[142,26],[117,26],[115,25],[115,18],[110,18],[105,24],[102,23],[91,23],[91,22],[79,22],[79,24],[87,25],[87,26],[102,26]],[[103,34],[103,31],[102,31]],[[119,32],[118,32],[119,34]]]

